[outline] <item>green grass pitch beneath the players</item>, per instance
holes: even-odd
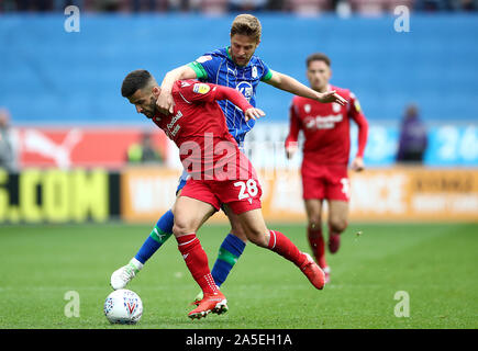
[[[303,226],[271,225],[309,251]],[[478,225],[351,225],[331,256],[332,281],[314,290],[279,256],[248,245],[222,287],[230,310],[191,321],[198,293],[176,240],[153,256],[127,288],[144,304],[136,326],[112,326],[102,313],[110,274],[143,244],[151,226],[0,227],[0,328],[478,328]],[[229,227],[199,233],[212,268]],[[355,233],[362,230],[357,237]],[[66,317],[68,291],[80,316]],[[398,318],[398,291],[410,317]]]

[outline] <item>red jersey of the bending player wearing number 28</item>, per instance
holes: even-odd
[[[236,169],[227,170],[227,165],[238,166],[241,152],[216,100],[227,99],[243,111],[252,107],[247,100],[232,88],[197,80],[176,81],[171,94],[174,113],[158,113],[153,122],[178,146],[189,174],[194,179],[223,180],[221,177],[227,171],[235,172]]]

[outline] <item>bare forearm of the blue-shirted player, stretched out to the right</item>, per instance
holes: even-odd
[[[336,102],[341,105],[347,104],[347,101],[337,94],[335,90],[318,92],[302,84],[300,81],[290,76],[274,70],[271,70],[271,72],[273,77],[267,80],[266,83],[275,88],[288,91],[294,95],[313,99],[323,103]]]

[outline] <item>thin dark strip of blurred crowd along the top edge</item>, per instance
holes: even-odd
[[[89,12],[294,12],[314,15],[321,12],[379,14],[399,4],[412,11],[477,11],[478,0],[3,0],[3,12],[63,12],[69,4]]]

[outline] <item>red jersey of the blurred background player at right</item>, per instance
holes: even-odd
[[[358,151],[363,157],[367,141],[368,124],[357,98],[347,89],[329,87],[347,100],[346,105],[321,103],[294,97],[290,107],[290,129],[286,148],[297,143],[299,132],[304,135],[303,162],[314,165],[347,165],[351,152],[351,120],[358,125]],[[304,165],[302,165],[304,166]]]

